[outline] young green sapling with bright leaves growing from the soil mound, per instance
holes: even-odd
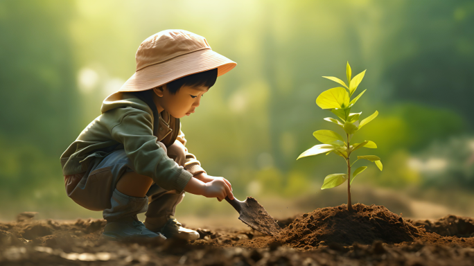
[[[362,96],[362,94],[367,91],[367,89],[365,89],[360,94],[358,94],[358,96],[351,100],[351,97],[353,96],[357,87],[360,85],[362,78],[364,78],[365,71],[362,71],[354,78],[351,78],[351,75],[351,66],[349,65],[349,62],[347,62],[346,76],[347,84],[349,84],[349,86],[347,86],[346,83],[340,80],[339,78],[323,77],[329,80],[333,80],[344,87],[335,87],[333,89],[323,91],[322,94],[319,94],[316,99],[316,104],[319,107],[321,107],[322,109],[330,109],[331,112],[337,116],[337,118],[340,118],[339,120],[337,118],[326,117],[324,118],[324,120],[331,123],[335,123],[336,125],[341,127],[342,130],[344,130],[344,133],[346,134],[346,140],[344,141],[340,134],[337,134],[336,132],[333,132],[331,130],[317,130],[313,132],[313,136],[315,136],[315,138],[318,141],[321,141],[323,144],[313,146],[313,148],[310,148],[309,150],[306,150],[306,152],[301,153],[297,158],[299,159],[302,157],[308,157],[323,153],[326,153],[327,155],[331,152],[344,158],[344,161],[346,161],[347,165],[347,173],[328,175],[326,178],[324,178],[324,184],[322,185],[321,189],[334,188],[336,186],[344,184],[344,182],[347,181],[348,211],[353,211],[351,204],[352,181],[357,175],[367,169],[367,166],[360,166],[359,168],[353,171],[351,177],[351,166],[353,166],[353,164],[356,163],[356,161],[358,161],[359,159],[365,159],[368,161],[373,161],[380,169],[380,171],[383,168],[382,163],[380,162],[380,158],[375,155],[358,156],[356,161],[353,161],[353,163],[351,163],[350,157],[352,152],[355,152],[356,150],[362,147],[371,149],[377,148],[376,143],[374,143],[373,141],[363,141],[362,143],[351,144],[351,139],[353,134],[356,134],[356,132],[358,132],[364,125],[367,125],[367,123],[374,120],[374,118],[378,116],[378,112],[376,111],[374,112],[374,114],[371,114],[370,116],[359,122],[360,114],[362,114],[362,112],[351,113],[351,108],[353,107],[353,105],[355,105],[356,102],[359,100],[360,96]]]

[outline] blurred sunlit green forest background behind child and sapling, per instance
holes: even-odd
[[[182,119],[188,149],[240,199],[277,218],[346,202],[346,172],[330,154],[296,161],[315,130],[341,130],[315,104],[367,69],[353,112],[379,116],[356,134],[384,163],[353,183],[353,202],[406,217],[474,216],[474,1],[0,0],[0,220],[100,218],[64,191],[60,155],[135,70],[146,37],[169,28],[207,38],[238,66]],[[188,223],[237,213],[187,195]],[[230,216],[233,221],[236,217]]]

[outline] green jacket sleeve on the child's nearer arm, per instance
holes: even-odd
[[[151,177],[161,188],[181,193],[193,177],[170,159],[157,143],[152,131],[152,117],[147,112],[128,112],[119,124],[112,127],[110,134],[112,139],[123,143],[134,171]]]

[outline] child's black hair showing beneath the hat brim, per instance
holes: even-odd
[[[211,88],[216,84],[217,73],[217,69],[195,73],[169,82],[166,84],[166,88],[170,94],[176,94],[183,86],[205,86]]]

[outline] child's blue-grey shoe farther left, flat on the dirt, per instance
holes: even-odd
[[[146,229],[145,224],[140,222],[137,215],[128,216],[113,222],[107,222],[102,233],[107,240],[125,240],[128,238],[162,238],[161,233],[155,233]]]

